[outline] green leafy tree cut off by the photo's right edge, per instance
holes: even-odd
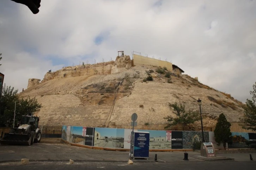
[[[244,115],[240,118],[243,129],[256,130],[256,82],[252,85],[253,91],[250,91],[252,100],[246,99],[246,104],[243,105]]]

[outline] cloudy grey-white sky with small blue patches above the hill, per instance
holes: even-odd
[[[251,99],[255,0],[42,0],[39,9],[0,2],[0,72],[19,91],[50,69],[138,51],[242,102]]]

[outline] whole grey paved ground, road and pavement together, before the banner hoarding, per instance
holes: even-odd
[[[158,162],[154,161],[157,154]],[[149,159],[133,159],[128,165],[129,152],[81,148],[67,144],[36,143],[31,146],[0,145],[0,169],[255,169],[256,161],[250,161],[249,153],[223,153],[218,157],[234,158],[234,161],[203,161],[193,158],[199,152],[188,152],[189,161],[184,161],[184,152],[150,152]],[[251,153],[256,159],[256,153]],[[20,160],[30,159],[28,165]],[[69,165],[69,159],[74,164]]]

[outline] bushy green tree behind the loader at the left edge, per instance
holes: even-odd
[[[15,124],[17,125],[23,115],[32,114],[42,107],[35,98],[19,98],[18,90],[14,87],[6,86],[2,88],[0,96],[0,127],[13,125],[14,109],[16,102]]]

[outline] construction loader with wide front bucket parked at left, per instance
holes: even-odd
[[[41,130],[38,128],[39,117],[23,116],[17,128],[12,128],[9,133],[0,139],[1,144],[7,145],[32,145],[41,140]]]

